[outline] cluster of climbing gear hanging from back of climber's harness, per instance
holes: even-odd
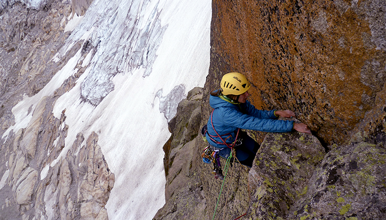
[[[206,140],[206,136],[205,136],[206,131],[207,131],[207,125],[202,127],[201,135],[202,135],[204,141],[206,143],[208,143],[208,141]],[[215,150],[215,148],[208,143],[208,146],[205,148],[204,152],[201,154],[201,157],[205,163],[213,163],[212,174],[214,174],[214,178],[224,179],[223,170],[221,169],[220,157],[218,155],[218,152],[219,152],[219,150]]]

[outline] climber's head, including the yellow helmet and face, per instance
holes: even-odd
[[[250,95],[247,91],[251,84],[241,73],[231,72],[225,74],[220,84],[222,94],[235,101],[245,103]]]

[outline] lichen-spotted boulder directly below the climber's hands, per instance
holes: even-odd
[[[287,219],[288,210],[307,192],[308,181],[325,152],[310,134],[269,133],[249,172],[253,219]]]

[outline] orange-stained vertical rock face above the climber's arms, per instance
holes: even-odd
[[[241,72],[256,107],[291,109],[322,143],[384,139],[386,3],[214,0],[212,10],[209,90]]]

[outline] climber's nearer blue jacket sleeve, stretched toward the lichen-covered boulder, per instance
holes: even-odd
[[[251,115],[242,114],[235,108],[228,108],[225,111],[224,122],[229,126],[265,132],[290,132],[293,129],[293,121],[260,119]]]

